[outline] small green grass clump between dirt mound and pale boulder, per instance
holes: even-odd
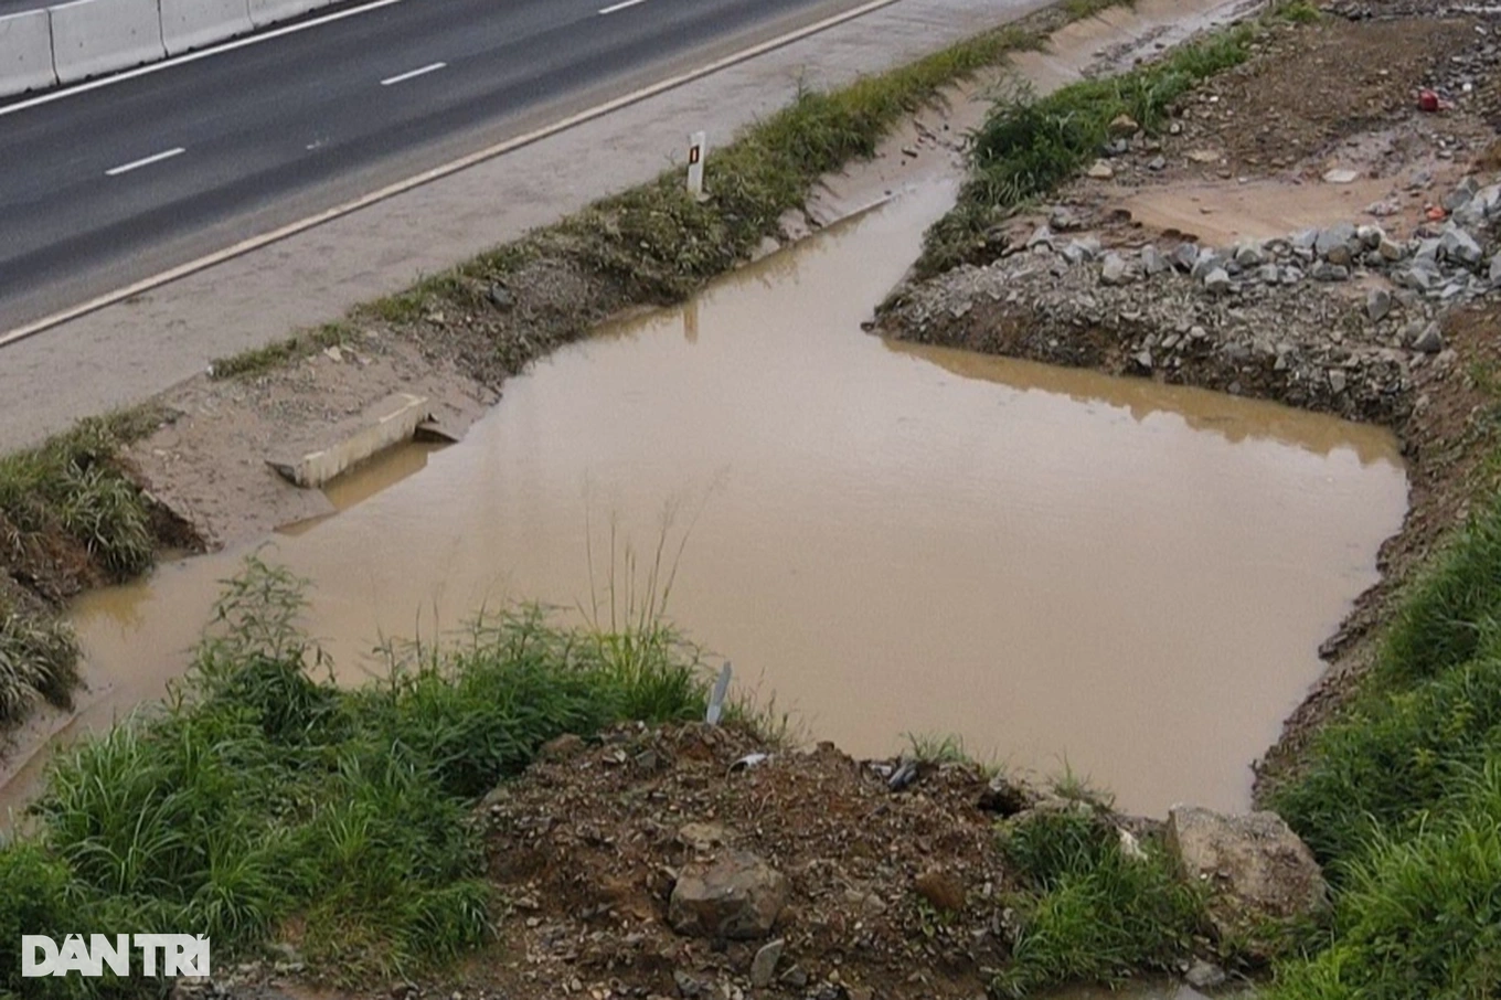
[[[1003,832],[1001,851],[1024,887],[1009,901],[1019,929],[992,982],[1000,995],[1075,980],[1115,985],[1190,953],[1204,920],[1199,889],[1177,877],[1159,844],[1142,842],[1133,856],[1121,839],[1084,805]]]

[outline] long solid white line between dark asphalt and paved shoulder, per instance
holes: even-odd
[[[159,275],[143,278],[141,281],[126,285],[125,288],[116,288],[114,291],[107,291],[105,294],[90,299],[89,302],[83,302],[69,309],[63,309],[62,312],[54,312],[53,315],[42,317],[41,320],[27,323],[26,326],[18,326],[9,333],[0,335],[0,347],[6,347],[8,344],[15,344],[17,341],[24,341],[29,336],[36,336],[38,333],[50,330],[54,326],[62,326],[69,320],[77,320],[78,317],[89,315],[90,312],[98,312],[105,306],[113,306],[114,303],[125,302],[126,299],[134,299],[135,296],[152,291],[153,288],[161,288],[162,285],[171,284],[180,278],[186,278],[188,275],[197,275],[200,270],[207,270],[215,264],[222,264],[227,260],[243,257],[251,251],[258,251],[263,246],[279,243],[281,240],[290,236],[306,233],[308,230],[323,225],[324,222],[332,222],[333,219],[351,215],[354,212],[359,212],[360,209],[368,209],[372,204],[386,201],[387,198],[395,198],[399,194],[405,194],[413,188],[420,188],[422,185],[432,183],[434,180],[441,180],[443,177],[456,174],[461,170],[468,170],[474,164],[483,164],[486,159],[495,159],[497,156],[509,153],[510,150],[515,149],[521,149],[522,146],[531,146],[533,143],[539,143],[548,138],[549,135],[566,132],[572,128],[584,125],[585,122],[593,122],[594,119],[600,119],[612,111],[618,111],[620,108],[629,108],[630,105],[639,104],[648,98],[654,98],[659,93],[666,93],[668,90],[675,90],[683,84],[689,84],[693,83],[695,80],[702,80],[704,77],[717,74],[720,69],[737,66],[743,62],[755,59],[757,56],[764,56],[785,45],[791,45],[793,42],[799,42],[805,38],[818,35],[820,32],[827,32],[829,29],[844,24],[845,21],[854,21],[856,18],[863,18],[865,15],[880,11],[881,8],[892,6],[893,3],[899,3],[899,0],[869,0],[869,3],[862,3],[859,8],[851,8],[842,14],[833,14],[824,18],[823,21],[806,24],[800,29],[788,32],[787,35],[761,42],[760,45],[752,45],[750,48],[743,48],[738,53],[731,53],[729,56],[716,59],[714,62],[698,66],[696,69],[689,69],[687,72],[678,74],[677,77],[668,77],[666,80],[659,80],[657,83],[648,87],[642,87],[641,90],[621,95],[603,104],[596,104],[593,108],[585,108],[578,114],[570,114],[569,117],[554,122],[552,125],[542,126],[534,132],[527,132],[524,135],[509,138],[504,143],[497,143],[495,146],[489,146],[486,149],[470,153],[468,156],[461,156],[459,159],[443,164],[441,167],[434,167],[432,170],[426,170],[417,174],[416,177],[408,177],[407,180],[398,180],[393,185],[381,188],[380,191],[372,191],[368,195],[354,198],[353,201],[345,201],[344,204],[333,206],[332,209],[326,209],[317,215],[309,215],[305,219],[290,222],[281,227],[279,230],[272,230],[270,233],[261,233],[260,236],[252,236],[246,240],[240,240],[234,246],[227,246],[222,251],[215,251],[213,254],[207,254],[197,260],[191,260],[186,264],[179,264],[177,267],[164,270]]]

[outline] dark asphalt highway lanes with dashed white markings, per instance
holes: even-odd
[[[480,149],[566,95],[853,6],[401,0],[0,104],[0,332]]]

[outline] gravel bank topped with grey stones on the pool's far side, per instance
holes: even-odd
[[[1465,179],[1405,239],[1340,222],[1231,246],[1085,231],[1069,209],[983,267],[907,287],[881,333],[1400,425],[1450,366],[1442,315],[1501,288],[1501,185]],[[1073,236],[1070,236],[1073,233]]]

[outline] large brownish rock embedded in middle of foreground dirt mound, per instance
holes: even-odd
[[[772,932],[785,905],[782,872],[755,854],[729,851],[713,863],[683,868],[666,919],[689,937],[755,940]]]

